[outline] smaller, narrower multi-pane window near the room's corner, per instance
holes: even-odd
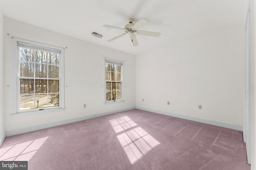
[[[105,59],[106,102],[123,100],[123,62]]]

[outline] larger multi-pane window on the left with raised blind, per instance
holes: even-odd
[[[14,39],[16,113],[64,108],[64,49]]]

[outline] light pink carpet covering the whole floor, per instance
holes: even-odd
[[[242,132],[133,109],[6,137],[29,170],[250,170]]]

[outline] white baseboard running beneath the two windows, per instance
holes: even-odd
[[[22,134],[22,133],[27,133],[27,132],[38,131],[38,130],[46,129],[46,128],[49,128],[49,127],[65,125],[65,124],[68,124],[68,123],[74,123],[74,122],[77,122],[77,121],[83,121],[83,120],[86,120],[86,119],[92,119],[92,118],[95,118],[95,117],[110,115],[110,114],[113,114],[113,113],[118,113],[118,112],[132,110],[132,109],[135,109],[135,107],[129,107],[129,108],[114,110],[114,111],[108,111],[108,112],[103,112],[103,113],[98,113],[98,114],[88,115],[88,116],[83,116],[83,117],[76,117],[74,119],[56,121],[56,122],[51,122],[51,123],[42,124],[42,125],[36,125],[36,126],[32,126],[32,127],[25,127],[25,128],[22,128],[22,129],[15,129],[15,130],[11,130],[11,131],[6,131],[5,136],[8,137],[8,136],[18,135],[18,134]]]

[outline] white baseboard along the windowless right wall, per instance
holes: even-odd
[[[206,124],[209,124],[209,125],[226,127],[228,129],[234,129],[234,130],[237,130],[237,131],[243,131],[243,127],[240,126],[240,125],[232,125],[232,124],[229,124],[229,123],[213,121],[213,120],[207,120],[207,119],[202,119],[202,118],[192,117],[192,116],[187,116],[187,115],[178,115],[178,114],[168,113],[168,112],[164,112],[164,111],[157,111],[157,110],[152,110],[152,109],[146,109],[146,108],[143,108],[143,107],[136,107],[136,109],[150,111],[150,112],[154,112],[154,113],[159,113],[159,114],[163,114],[163,115],[178,117],[178,118],[192,120],[192,121],[197,121],[197,122],[206,123]]]

